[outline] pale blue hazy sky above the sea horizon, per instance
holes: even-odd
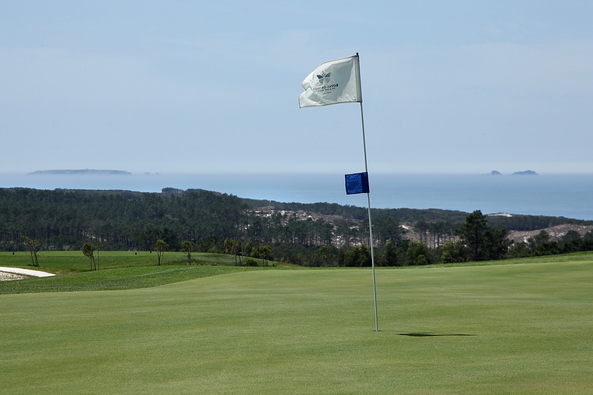
[[[0,172],[593,173],[593,2],[0,2]]]

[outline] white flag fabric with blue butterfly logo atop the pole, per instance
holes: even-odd
[[[299,108],[362,102],[358,54],[322,63],[302,82]]]

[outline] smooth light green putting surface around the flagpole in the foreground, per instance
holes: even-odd
[[[0,295],[0,394],[590,394],[593,262]]]

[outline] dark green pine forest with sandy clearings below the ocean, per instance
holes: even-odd
[[[485,216],[480,210],[373,209],[376,265],[482,261],[593,250],[593,233],[515,242],[510,230],[593,221]],[[250,200],[205,190],[134,191],[0,188],[0,251],[166,249],[232,253],[307,266],[369,266],[366,208]],[[33,255],[32,255],[33,256]],[[253,261],[251,261],[253,262]]]

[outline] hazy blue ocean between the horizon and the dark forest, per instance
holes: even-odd
[[[593,220],[593,174],[369,174],[372,208],[440,208]],[[346,195],[343,174],[0,174],[0,187],[160,192],[190,188],[241,198],[366,207]]]

